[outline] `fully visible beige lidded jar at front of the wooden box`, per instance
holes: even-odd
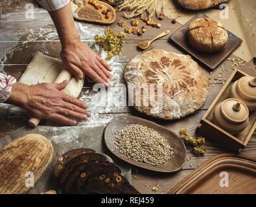
[[[236,98],[229,98],[215,107],[213,122],[231,135],[237,135],[249,124],[248,107]]]

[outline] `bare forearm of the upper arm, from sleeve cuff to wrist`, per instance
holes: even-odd
[[[65,45],[69,45],[71,42],[80,40],[79,33],[75,27],[70,3],[59,10],[49,12],[49,14],[57,29],[62,48],[64,48]]]

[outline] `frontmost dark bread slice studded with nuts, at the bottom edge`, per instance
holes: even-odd
[[[128,180],[125,177],[120,175],[119,173],[93,173],[89,176],[89,179],[86,182],[86,186],[84,186],[84,191],[97,191],[100,189],[100,186],[114,188],[120,194],[140,194],[133,186],[130,185]],[[102,194],[105,194],[102,191]]]

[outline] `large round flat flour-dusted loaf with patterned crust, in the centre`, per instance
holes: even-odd
[[[164,120],[193,113],[208,95],[209,80],[198,63],[190,56],[165,50],[136,56],[128,63],[124,78],[135,109]]]

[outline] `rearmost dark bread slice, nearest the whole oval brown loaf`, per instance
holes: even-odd
[[[71,151],[67,151],[66,153],[58,157],[56,166],[54,167],[54,176],[59,177],[63,169],[65,168],[65,165],[67,164],[67,162],[69,162],[69,160],[84,153],[95,153],[95,151],[93,149],[86,148],[73,149]]]

